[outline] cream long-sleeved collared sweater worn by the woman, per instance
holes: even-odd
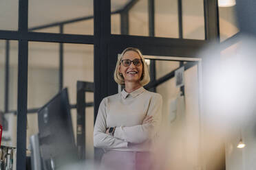
[[[160,127],[161,114],[162,96],[143,87],[132,93],[122,90],[105,97],[94,125],[94,146],[120,151],[149,151]],[[153,122],[142,125],[147,115],[153,116]],[[116,127],[114,136],[105,133],[109,127]],[[131,143],[129,147],[128,143]]]

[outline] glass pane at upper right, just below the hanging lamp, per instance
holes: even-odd
[[[226,40],[239,32],[235,6],[219,7],[220,41]]]

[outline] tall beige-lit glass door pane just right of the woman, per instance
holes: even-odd
[[[178,62],[157,61],[156,73],[164,75],[178,67]],[[164,69],[162,69],[164,67]],[[160,169],[189,169],[200,167],[200,112],[198,104],[198,67],[184,71],[184,97],[175,86],[175,77],[157,87],[162,95],[160,130]],[[164,71],[164,72],[163,72]],[[159,73],[158,73],[159,72]],[[161,137],[162,134],[162,137]],[[164,134],[172,134],[166,136]],[[193,134],[193,135],[191,135]],[[169,143],[166,147],[161,144]],[[168,160],[168,161],[167,161]],[[176,162],[182,162],[177,164]]]

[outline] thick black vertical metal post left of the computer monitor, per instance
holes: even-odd
[[[28,0],[19,1],[19,34],[28,32]],[[17,169],[25,169],[28,106],[28,40],[19,39],[17,104]]]

